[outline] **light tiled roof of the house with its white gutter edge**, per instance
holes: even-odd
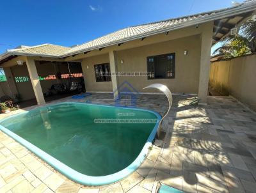
[[[162,20],[158,22],[152,22],[149,24],[143,24],[140,26],[126,27],[109,35],[102,36],[90,42],[77,45],[75,47],[63,47],[59,45],[43,44],[24,49],[12,49],[7,50],[4,54],[0,55],[0,61],[11,55],[26,55],[26,56],[45,56],[63,58],[79,54],[81,52],[90,51],[93,49],[100,49],[110,45],[116,45],[118,43],[124,43],[138,38],[143,38],[150,35],[156,35],[164,33],[166,31],[172,31],[174,29],[180,29],[182,27],[193,26],[195,24],[202,24],[211,20],[220,20],[214,30],[216,38],[220,40],[219,36],[223,34],[219,30],[219,23],[222,24],[222,19],[231,17],[238,14],[252,12],[256,9],[256,0],[244,1],[244,3],[238,4],[231,8],[225,8],[222,10],[215,10],[212,12],[198,13],[196,15],[189,15],[185,17],[179,17],[175,19]],[[243,16],[245,17],[245,16]],[[242,17],[242,18],[243,18]],[[239,21],[237,21],[239,22]],[[236,24],[236,23],[235,23]],[[234,24],[234,25],[235,25]],[[222,30],[223,31],[223,30]],[[229,30],[228,30],[229,31]],[[219,35],[219,36],[218,36]],[[215,38],[214,38],[215,39]]]

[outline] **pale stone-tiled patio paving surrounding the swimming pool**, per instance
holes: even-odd
[[[102,187],[68,180],[0,132],[0,192],[156,192],[159,181],[184,192],[255,192],[256,115],[230,97],[209,96],[205,106],[190,105],[193,99],[175,95],[165,138],[137,171]],[[86,101],[114,104],[109,94],[79,100]],[[163,95],[139,95],[138,107],[162,114],[166,102]]]

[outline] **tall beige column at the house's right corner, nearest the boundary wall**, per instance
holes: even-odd
[[[201,56],[200,56],[200,72],[198,85],[199,104],[207,103],[208,83],[211,60],[211,46],[212,46],[212,30],[213,22],[204,25],[201,34]]]

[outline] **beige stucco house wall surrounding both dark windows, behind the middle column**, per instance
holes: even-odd
[[[184,55],[184,50],[188,50],[188,55]],[[200,67],[200,35],[117,51],[118,72],[147,72],[147,56],[173,52],[175,52],[174,79],[148,80],[147,76],[119,77],[119,83],[122,84],[122,82],[127,81],[137,91],[141,92],[148,92],[143,88],[149,84],[162,83],[174,93],[197,93]],[[124,61],[123,64],[121,64],[121,60]],[[83,59],[82,68],[87,91],[113,91],[111,82],[95,81],[93,65],[108,62],[108,54]]]

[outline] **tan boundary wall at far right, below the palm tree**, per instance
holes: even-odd
[[[256,54],[211,63],[210,82],[227,85],[230,95],[256,111]]]

